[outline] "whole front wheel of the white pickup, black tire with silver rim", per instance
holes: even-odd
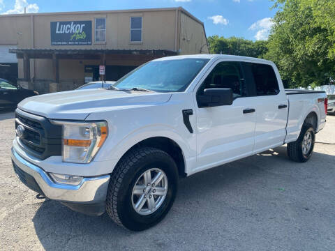
[[[163,220],[177,188],[177,165],[168,153],[152,147],[133,149],[112,173],[106,211],[118,225],[142,231]]]

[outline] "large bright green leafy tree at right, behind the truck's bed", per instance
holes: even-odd
[[[322,3],[325,6],[322,6]],[[265,58],[290,86],[318,86],[335,77],[335,2],[278,0]]]

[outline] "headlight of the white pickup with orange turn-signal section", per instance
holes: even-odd
[[[105,142],[107,123],[52,121],[63,126],[62,159],[64,162],[88,163]]]

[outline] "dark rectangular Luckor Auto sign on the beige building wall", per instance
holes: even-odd
[[[50,22],[51,45],[91,45],[92,21]]]

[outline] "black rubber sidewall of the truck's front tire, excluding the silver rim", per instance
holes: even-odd
[[[133,208],[131,201],[133,187],[137,179],[148,169],[152,168],[159,168],[165,172],[168,178],[168,192],[163,204],[154,213],[140,215]],[[135,162],[123,180],[117,196],[117,210],[124,227],[138,231],[152,227],[160,222],[170,210],[177,193],[178,172],[174,160],[165,153],[152,153]]]

